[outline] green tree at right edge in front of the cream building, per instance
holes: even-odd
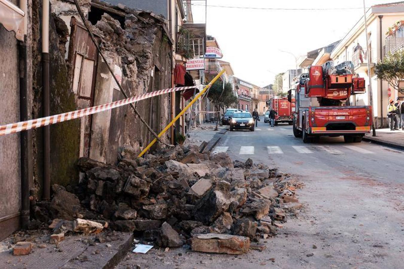
[[[383,60],[375,66],[377,78],[389,82],[396,90],[404,93],[400,88],[400,81],[404,80],[404,51],[398,50],[394,53],[387,53]]]

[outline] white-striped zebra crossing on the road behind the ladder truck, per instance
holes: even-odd
[[[376,152],[370,151],[368,149],[364,149],[360,146],[354,145],[343,145],[338,147],[334,146],[327,146],[327,145],[311,145],[311,146],[267,146],[267,153],[269,155],[273,154],[284,154],[286,153],[299,153],[299,154],[311,154],[315,152],[325,152],[333,155],[344,155],[344,154],[353,154],[353,153],[360,153],[360,154],[375,154]],[[238,152],[238,155],[253,155],[259,151],[262,151],[263,147],[254,147],[254,146],[240,146],[233,151],[234,153]],[[224,146],[216,146],[212,153],[220,153],[220,152],[227,152],[229,151],[229,147]],[[402,151],[392,151],[393,153],[403,153]]]

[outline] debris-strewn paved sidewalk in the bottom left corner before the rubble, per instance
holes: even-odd
[[[97,235],[66,235],[57,244],[50,244],[49,235],[49,229],[19,231],[0,241],[0,268],[109,269],[122,260],[133,243],[133,233],[109,230]],[[18,241],[32,242],[31,253],[14,256],[13,246]]]

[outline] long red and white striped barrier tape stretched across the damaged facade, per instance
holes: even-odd
[[[154,97],[157,95],[162,95],[164,93],[175,92],[175,91],[180,91],[180,90],[187,90],[187,89],[196,88],[196,87],[204,87],[204,85],[156,90],[154,92],[147,92],[143,95],[134,96],[134,97],[130,97],[127,99],[122,99],[119,101],[106,103],[103,105],[97,105],[95,107],[88,107],[88,108],[84,108],[84,109],[80,109],[80,110],[76,110],[76,111],[70,111],[70,112],[66,112],[66,113],[57,114],[54,116],[39,118],[36,120],[26,120],[24,122],[17,122],[17,123],[1,125],[0,126],[0,136],[12,134],[15,132],[21,132],[24,130],[30,130],[30,129],[34,129],[34,128],[38,128],[38,127],[42,127],[42,126],[47,126],[47,125],[55,124],[55,123],[59,123],[59,122],[64,122],[67,120],[73,120],[73,119],[81,118],[81,117],[88,116],[91,114],[106,111],[109,109],[113,109],[116,107],[122,107],[124,105],[128,105],[130,103],[134,103],[134,102],[137,102],[137,101],[140,101],[143,99],[147,99],[150,97]]]

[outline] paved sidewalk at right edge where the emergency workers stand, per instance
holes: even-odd
[[[404,150],[404,131],[391,131],[389,128],[376,129],[376,137],[372,133],[363,138],[364,141]]]

